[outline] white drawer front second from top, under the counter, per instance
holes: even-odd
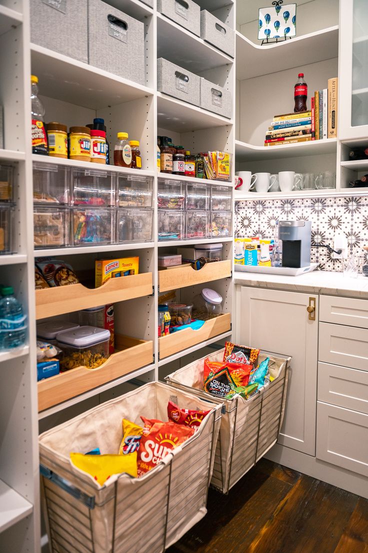
[[[368,329],[320,322],[318,360],[368,371]]]

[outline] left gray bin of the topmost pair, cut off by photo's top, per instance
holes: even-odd
[[[188,7],[186,7],[188,6]],[[157,0],[157,11],[166,15],[191,33],[200,36],[201,9],[191,0]]]

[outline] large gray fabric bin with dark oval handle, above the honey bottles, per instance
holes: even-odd
[[[146,84],[144,24],[101,0],[88,0],[89,63]]]

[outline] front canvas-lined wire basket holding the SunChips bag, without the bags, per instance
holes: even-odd
[[[211,410],[198,431],[141,478],[112,476],[100,486],[70,452],[117,453],[122,418],[168,420],[167,404]],[[221,404],[151,383],[107,401],[39,436],[42,491],[51,551],[160,553],[206,514]],[[51,474],[51,477],[50,477]]]

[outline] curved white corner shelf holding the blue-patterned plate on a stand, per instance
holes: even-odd
[[[278,44],[258,45],[236,32],[236,78],[251,79],[292,67],[337,58],[339,27],[329,27]]]

